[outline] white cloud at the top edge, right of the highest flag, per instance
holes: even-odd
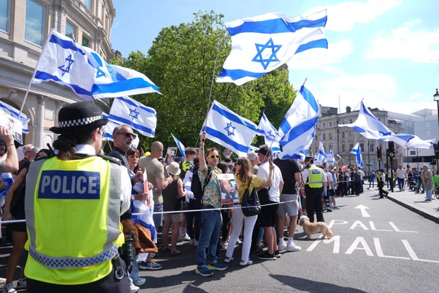
[[[357,23],[369,23],[387,10],[396,8],[402,0],[351,1],[329,5],[327,30],[344,32],[352,30]]]

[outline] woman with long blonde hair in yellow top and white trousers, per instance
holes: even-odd
[[[263,178],[260,178],[253,174],[252,164],[250,163],[250,160],[248,158],[239,158],[235,163],[235,180],[238,186],[239,202],[242,202],[244,192],[247,188],[249,193],[251,193],[254,188],[265,188],[272,186],[273,169],[274,165],[270,164],[270,174],[268,176],[269,179],[264,180]],[[248,266],[253,263],[253,261],[248,259],[248,256],[250,255],[252,232],[254,224],[257,220],[257,215],[246,217],[242,213],[241,203],[230,205],[230,207],[233,207],[233,209],[228,210],[228,216],[232,219],[233,228],[228,243],[235,244],[237,242],[242,225],[244,224],[244,242],[242,244],[241,261],[239,261],[239,266]],[[229,263],[233,260],[234,249],[235,245],[228,245],[226,251],[226,259],[224,260],[226,263]]]

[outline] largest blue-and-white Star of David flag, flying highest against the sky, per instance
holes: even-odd
[[[287,62],[294,54],[313,48],[328,48],[322,27],[327,10],[294,18],[268,13],[226,23],[232,50],[217,82],[245,84]]]

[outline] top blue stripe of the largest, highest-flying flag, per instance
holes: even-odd
[[[266,21],[246,21],[237,27],[228,27],[230,36],[241,33],[257,34],[281,34],[285,32],[296,32],[305,27],[324,27],[327,23],[327,16],[315,21],[306,19],[296,22],[286,22],[284,19],[268,19]],[[286,25],[285,25],[286,24]]]

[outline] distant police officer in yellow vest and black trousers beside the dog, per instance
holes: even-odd
[[[314,222],[314,212],[316,212],[317,222],[324,222],[322,196],[327,189],[327,176],[324,176],[322,169],[314,165],[312,156],[305,158],[302,180],[305,183],[306,209],[309,222]]]

